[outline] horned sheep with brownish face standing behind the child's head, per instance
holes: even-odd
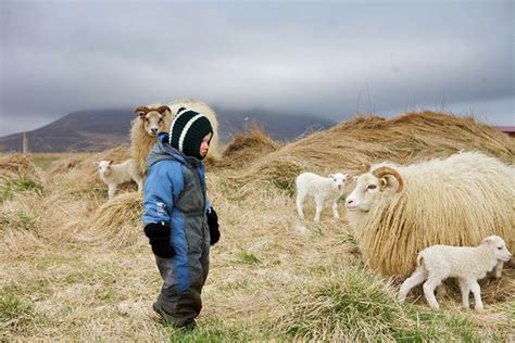
[[[169,130],[173,117],[181,107],[202,113],[210,119],[213,127],[213,138],[205,158],[206,161],[217,161],[219,158],[218,122],[215,112],[208,104],[194,99],[181,99],[172,102],[169,105],[139,106],[134,110],[138,117],[133,120],[130,129],[130,156],[136,161],[142,176],[147,173],[147,155],[158,140],[158,134]]]

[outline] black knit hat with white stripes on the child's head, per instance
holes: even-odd
[[[180,107],[169,127],[169,144],[186,156],[202,160],[200,144],[208,134],[213,134],[213,127],[206,116]]]

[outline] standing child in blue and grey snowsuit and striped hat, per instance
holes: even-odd
[[[210,245],[219,239],[217,216],[205,195],[204,166],[213,129],[200,113],[180,109],[169,135],[159,134],[147,157],[145,234],[163,285],[153,309],[165,325],[194,329],[202,308]]]

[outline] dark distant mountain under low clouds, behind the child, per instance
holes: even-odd
[[[221,141],[259,124],[274,140],[288,141],[336,123],[313,115],[277,113],[265,110],[214,109],[219,123]],[[129,143],[131,109],[105,109],[72,112],[39,129],[27,132],[30,152],[102,151]],[[23,134],[0,137],[0,152],[22,151]]]

